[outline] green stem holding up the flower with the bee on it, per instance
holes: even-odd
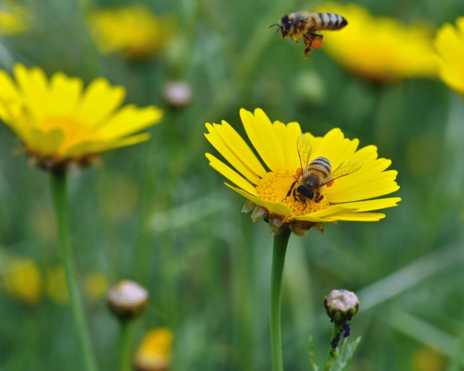
[[[290,229],[287,227],[280,235],[274,237],[271,273],[271,352],[273,371],[283,371],[282,338],[280,333],[280,289],[282,287],[285,252],[287,251],[290,233]]]

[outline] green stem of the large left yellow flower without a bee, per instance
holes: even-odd
[[[81,294],[76,282],[74,257],[71,251],[69,238],[69,211],[66,193],[66,172],[52,172],[52,190],[55,201],[56,221],[58,225],[59,242],[61,245],[61,260],[66,274],[69,291],[69,300],[76,324],[79,342],[81,343],[85,368],[87,371],[96,371],[95,356],[90,347],[90,336],[85,325]]]

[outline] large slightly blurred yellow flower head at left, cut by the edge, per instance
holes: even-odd
[[[161,120],[155,106],[120,109],[125,89],[93,80],[83,91],[79,78],[55,73],[48,81],[37,68],[14,67],[16,82],[0,71],[0,118],[46,168],[85,165],[98,153],[148,140],[132,135]]]

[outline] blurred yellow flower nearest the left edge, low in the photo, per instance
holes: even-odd
[[[28,304],[36,304],[42,298],[42,274],[31,259],[8,259],[3,286],[10,295]]]

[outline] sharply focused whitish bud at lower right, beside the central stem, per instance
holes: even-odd
[[[332,290],[324,298],[328,317],[338,325],[349,321],[359,308],[356,294],[348,290]]]

